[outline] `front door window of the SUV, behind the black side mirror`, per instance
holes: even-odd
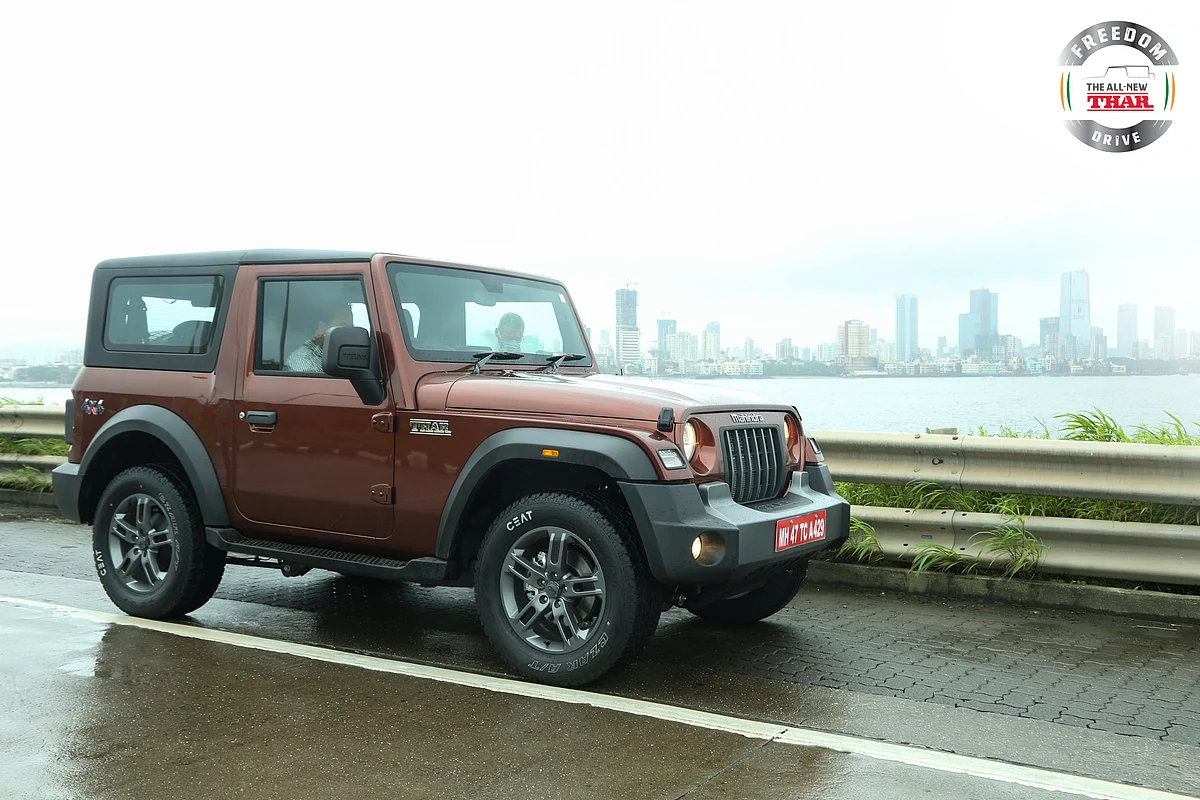
[[[324,375],[325,331],[371,330],[361,278],[262,278],[254,372]]]

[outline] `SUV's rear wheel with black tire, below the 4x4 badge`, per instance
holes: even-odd
[[[143,528],[143,507],[149,531],[131,534],[130,528]],[[163,543],[156,547],[156,541]],[[224,575],[224,553],[205,540],[186,481],[162,467],[133,467],[108,483],[96,509],[91,549],[108,597],[133,616],[188,614],[212,597]]]

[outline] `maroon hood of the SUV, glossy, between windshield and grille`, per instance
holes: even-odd
[[[658,420],[665,407],[674,410],[677,421],[685,411],[700,409],[791,408],[757,395],[722,390],[700,381],[529,372],[463,375],[455,380],[446,397],[448,409],[648,421]]]

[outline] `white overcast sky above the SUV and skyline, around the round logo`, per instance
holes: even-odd
[[[1200,330],[1200,4],[0,5],[0,349],[82,343],[116,255],[379,249],[613,290],[726,345],[858,318],[956,339],[967,294],[1036,342],[1064,270]],[[1064,130],[1063,46],[1128,19],[1181,59],[1176,121]],[[1195,98],[1195,100],[1193,100]]]

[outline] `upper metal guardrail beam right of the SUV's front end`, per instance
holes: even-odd
[[[814,431],[839,481],[1200,505],[1200,447]]]

